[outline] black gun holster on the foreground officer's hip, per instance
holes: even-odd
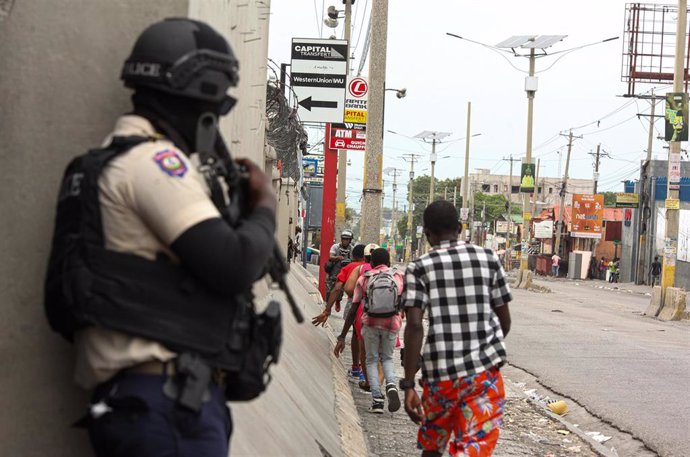
[[[211,367],[197,354],[184,352],[175,360],[175,375],[163,385],[163,392],[178,405],[198,413],[209,401]]]

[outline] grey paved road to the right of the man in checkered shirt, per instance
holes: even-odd
[[[546,283],[515,290],[510,362],[661,456],[690,456],[690,321],[642,316],[649,297]]]

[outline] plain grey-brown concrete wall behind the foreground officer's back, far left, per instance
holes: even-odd
[[[2,455],[81,456],[69,428],[86,396],[53,334],[42,283],[68,159],[99,144],[129,107],[118,80],[138,33],[183,0],[20,0],[0,22],[0,443]]]

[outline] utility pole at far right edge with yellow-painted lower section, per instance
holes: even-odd
[[[685,46],[687,39],[685,37],[688,20],[688,2],[687,0],[678,0],[678,21],[676,22],[676,59],[673,68],[673,92],[685,92],[683,89],[683,82],[685,79]],[[687,94],[685,95],[687,97]],[[686,120],[687,122],[687,120]],[[671,141],[668,149],[668,178],[666,203],[669,201],[677,201],[679,198],[680,183],[671,183],[673,176],[672,168],[680,166],[680,140]],[[661,271],[661,289],[662,298],[665,299],[666,289],[675,286],[676,281],[676,256],[678,252],[678,223],[679,213],[678,209],[669,208],[666,204],[666,237],[664,239],[664,262]],[[678,208],[677,206],[674,206]]]

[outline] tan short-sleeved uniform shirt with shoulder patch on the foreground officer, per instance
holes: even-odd
[[[122,116],[112,133],[154,134],[146,119],[134,115]],[[151,260],[161,252],[175,259],[169,248],[175,239],[199,222],[220,217],[197,166],[196,155],[190,160],[166,139],[142,143],[113,159],[98,182],[105,247]],[[159,343],[101,327],[78,332],[75,348],[75,381],[86,389],[123,368],[175,357]]]

